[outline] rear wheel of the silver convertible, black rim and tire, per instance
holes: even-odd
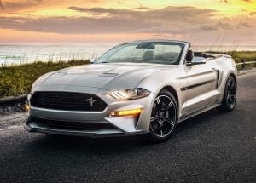
[[[220,106],[217,107],[220,112],[232,112],[236,106],[236,79],[229,76],[225,84],[224,97]]]

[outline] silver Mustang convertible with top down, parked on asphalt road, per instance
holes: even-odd
[[[167,140],[177,123],[236,105],[229,55],[193,52],[182,41],[119,44],[93,63],[53,71],[32,84],[30,132],[90,137],[148,134]]]

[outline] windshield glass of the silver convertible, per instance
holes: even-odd
[[[137,62],[177,65],[182,43],[125,43],[110,49],[96,63]]]

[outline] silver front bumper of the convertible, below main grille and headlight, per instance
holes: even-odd
[[[154,94],[150,94],[143,99],[124,101],[113,100],[106,95],[97,95],[108,104],[107,108],[102,112],[62,111],[31,106],[30,117],[26,121],[25,129],[30,132],[40,132],[45,134],[65,134],[89,137],[148,133]],[[109,117],[110,112],[136,108],[143,109],[138,116]],[[38,119],[40,120],[40,123],[38,123]],[[44,123],[49,121],[54,124]],[[55,123],[60,122],[67,122],[72,127],[79,123],[83,124],[85,127],[68,128],[68,126],[55,125]],[[102,124],[102,128],[101,125],[98,125],[99,127],[96,129],[86,128],[87,124],[88,126],[91,126],[99,123]],[[106,126],[108,127],[106,128]]]

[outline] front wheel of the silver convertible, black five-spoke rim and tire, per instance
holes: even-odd
[[[154,100],[149,124],[149,140],[160,143],[168,140],[177,127],[178,108],[177,100],[166,89]]]

